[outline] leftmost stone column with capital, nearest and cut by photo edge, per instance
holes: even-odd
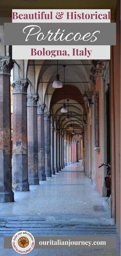
[[[14,202],[11,171],[10,57],[0,57],[0,203]]]

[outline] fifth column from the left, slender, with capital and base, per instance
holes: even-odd
[[[45,138],[45,173],[46,177],[52,177],[50,155],[50,112],[44,114],[44,138]]]

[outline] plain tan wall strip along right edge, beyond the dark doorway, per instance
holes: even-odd
[[[115,12],[117,23],[117,44],[111,47],[111,163],[112,163],[112,217],[116,220],[120,234],[121,222],[121,88],[120,88],[120,1]]]

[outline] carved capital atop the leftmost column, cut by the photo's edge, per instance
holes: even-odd
[[[0,56],[0,75],[10,76],[10,56]]]

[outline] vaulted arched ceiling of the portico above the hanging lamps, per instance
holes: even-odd
[[[64,84],[64,67],[65,66],[65,84]],[[28,74],[35,74],[35,91],[39,94],[39,103],[45,104],[45,111],[51,112],[53,126],[66,134],[75,130],[76,134],[81,133],[83,128],[83,113],[86,112],[86,105],[83,101],[84,91],[90,91],[90,60],[59,60],[58,74],[60,81],[63,82],[63,88],[52,88],[52,82],[55,80],[57,73],[56,60],[38,60],[30,61]],[[32,72],[33,70],[33,72]],[[70,121],[66,121],[67,114],[61,113],[61,108],[65,102],[68,114],[71,116]],[[69,126],[73,124],[73,129]]]

